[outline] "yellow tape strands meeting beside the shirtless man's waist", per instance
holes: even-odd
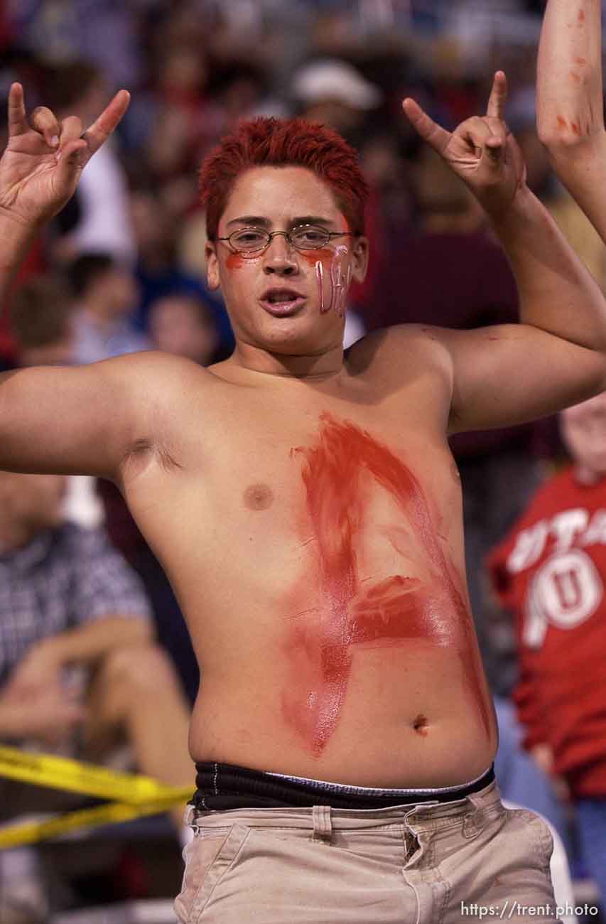
[[[115,800],[106,805],[55,815],[44,821],[22,821],[0,827],[0,850],[33,844],[79,828],[156,815],[180,802],[187,802],[192,795],[191,787],[170,786],[139,773],[116,772],[54,754],[32,754],[5,746],[0,746],[0,776]]]

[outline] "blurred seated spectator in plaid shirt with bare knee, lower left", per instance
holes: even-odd
[[[0,739],[93,761],[126,742],[141,772],[188,785],[188,708],[139,579],[102,531],[64,519],[65,489],[0,473]],[[0,793],[5,819],[39,796],[53,808],[44,790],[0,780]]]

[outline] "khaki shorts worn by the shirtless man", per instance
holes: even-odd
[[[558,919],[551,833],[496,783],[433,806],[188,812],[182,924]]]

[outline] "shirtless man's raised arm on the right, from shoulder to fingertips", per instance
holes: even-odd
[[[484,208],[515,274],[520,324],[434,329],[452,368],[453,432],[537,419],[606,389],[606,302],[544,206],[527,188],[503,117],[497,72],[486,116],[451,133],[406,100],[419,135]]]

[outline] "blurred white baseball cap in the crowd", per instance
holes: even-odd
[[[322,58],[299,68],[291,91],[301,103],[337,100],[354,109],[375,109],[382,101],[382,91],[362,77],[356,67],[338,58]]]

